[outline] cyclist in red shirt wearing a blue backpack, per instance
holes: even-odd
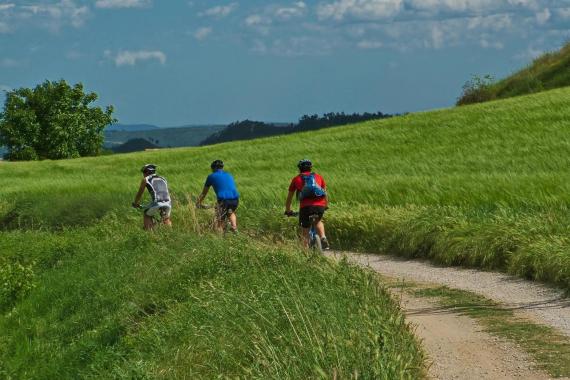
[[[317,234],[321,238],[323,249],[329,249],[329,242],[325,235],[325,225],[322,221],[327,209],[326,184],[323,177],[313,173],[313,163],[304,159],[297,164],[299,174],[293,178],[289,185],[289,194],[285,202],[285,214],[291,215],[291,203],[295,193],[300,200],[299,224],[303,228],[303,242],[309,246],[309,229],[311,228],[311,215],[319,217],[315,225]]]

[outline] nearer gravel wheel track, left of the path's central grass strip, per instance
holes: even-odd
[[[402,307],[417,326],[429,356],[428,374],[433,379],[527,379],[550,377],[533,368],[528,355],[512,343],[481,331],[465,316],[434,313],[435,305],[403,295]]]

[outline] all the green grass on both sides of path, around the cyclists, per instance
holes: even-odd
[[[373,277],[286,248],[297,160],[327,179],[337,248],[570,289],[569,103],[560,89],[241,143],[0,163],[0,374],[420,376]],[[208,215],[191,198],[217,158],[242,193],[237,240],[196,233]],[[129,208],[147,162],[169,180],[172,232],[142,233]]]

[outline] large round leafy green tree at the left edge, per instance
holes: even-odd
[[[62,159],[96,156],[103,146],[103,130],[116,122],[113,107],[90,106],[97,94],[65,80],[45,81],[34,89],[6,93],[0,113],[0,146],[9,160]]]

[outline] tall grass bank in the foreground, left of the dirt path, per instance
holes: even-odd
[[[422,375],[373,274],[243,236],[128,222],[3,233],[4,263],[33,277],[0,304],[0,378]]]

